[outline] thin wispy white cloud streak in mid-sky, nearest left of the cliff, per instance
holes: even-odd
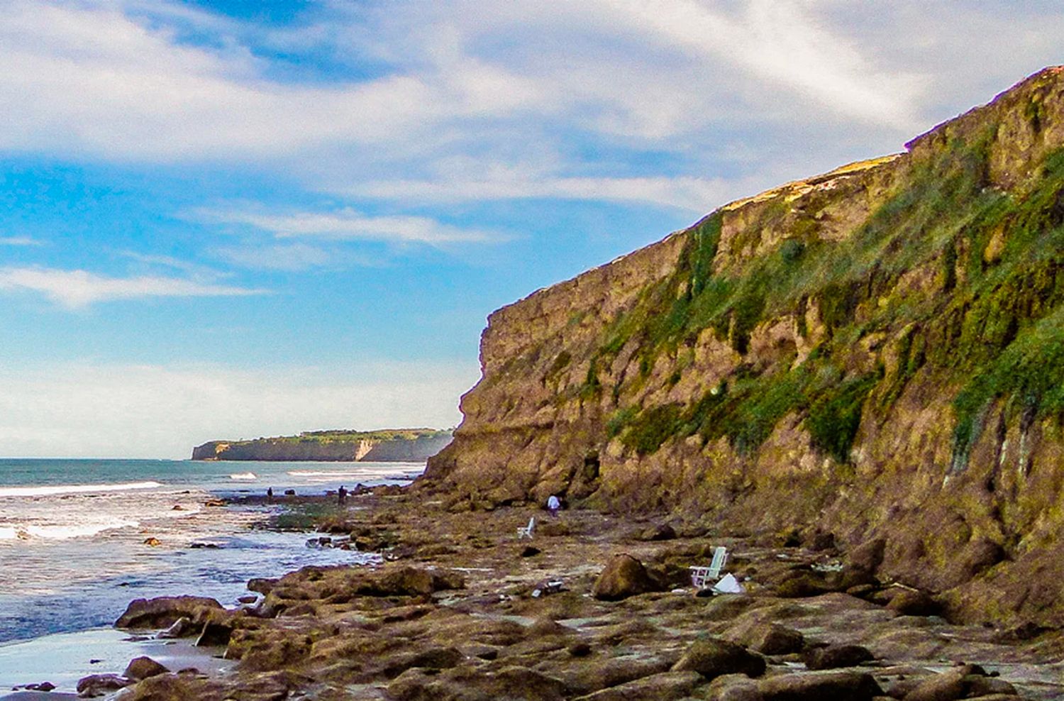
[[[244,224],[269,232],[279,238],[298,236],[332,240],[372,240],[393,244],[451,244],[492,241],[501,234],[462,229],[428,217],[366,216],[352,208],[334,212],[287,212],[272,214],[249,210],[202,208],[190,216],[203,221]]]

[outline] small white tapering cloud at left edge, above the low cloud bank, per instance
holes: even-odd
[[[0,290],[41,293],[68,308],[146,297],[233,297],[264,294],[260,289],[205,285],[178,278],[106,278],[85,270],[54,268],[0,269]]]

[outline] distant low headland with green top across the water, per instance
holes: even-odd
[[[193,460],[420,462],[451,441],[450,431],[309,431],[298,436],[212,440],[193,449]]]

